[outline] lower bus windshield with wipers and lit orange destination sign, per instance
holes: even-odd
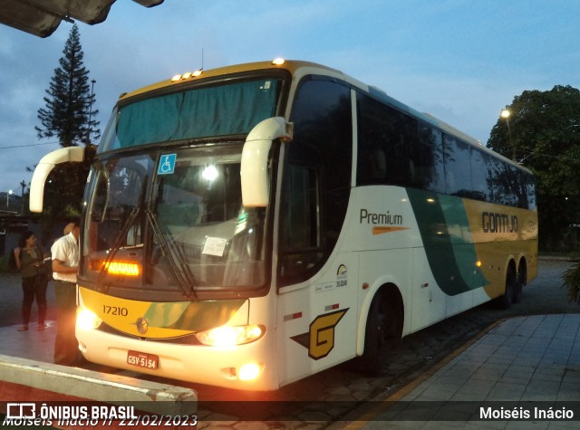
[[[242,205],[241,149],[156,149],[96,162],[84,223],[85,280],[187,297],[262,286],[265,210]],[[170,170],[163,165],[168,155]]]

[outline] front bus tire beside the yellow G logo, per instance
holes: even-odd
[[[385,352],[390,338],[389,309],[381,293],[372,299],[369,316],[366,320],[364,335],[364,352],[362,353],[362,369],[365,373],[378,375],[381,373]]]

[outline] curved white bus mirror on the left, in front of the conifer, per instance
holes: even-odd
[[[82,162],[84,148],[67,147],[56,149],[46,154],[34,168],[30,183],[30,212],[43,212],[44,184],[54,166],[67,162]]]

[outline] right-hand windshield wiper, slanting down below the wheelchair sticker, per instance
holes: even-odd
[[[191,269],[189,269],[189,265],[186,263],[183,254],[180,252],[179,246],[176,244],[169,244],[167,239],[165,239],[165,235],[161,232],[157,218],[149,209],[145,210],[145,214],[147,215],[155,239],[157,239],[157,242],[160,244],[161,253],[165,257],[165,260],[169,265],[169,270],[175,277],[181,292],[183,292],[183,295],[186,297],[197,299],[196,289],[198,288],[198,284]],[[177,262],[176,257],[178,259]]]

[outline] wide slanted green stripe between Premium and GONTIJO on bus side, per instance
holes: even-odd
[[[478,255],[463,200],[414,188],[407,195],[440,289],[453,296],[487,285],[476,267]]]

